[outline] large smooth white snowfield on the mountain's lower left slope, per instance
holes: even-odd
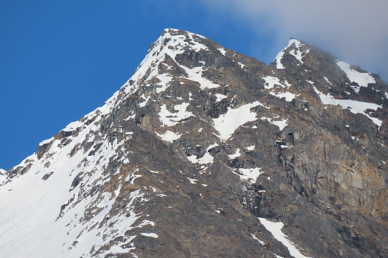
[[[89,124],[80,131],[76,140],[66,146],[59,147],[60,140],[54,140],[49,153],[55,163],[44,167],[44,162],[37,160],[36,154],[33,154],[29,157],[32,166],[28,173],[13,178],[0,187],[0,257],[80,257],[88,254],[92,246],[97,250],[116,236],[124,236],[124,232],[138,219],[138,214],[123,211],[125,213],[118,213],[112,218],[115,221],[115,232],[110,231],[108,225],[96,227],[94,225],[100,223],[110,212],[121,188],[93,197],[76,196],[81,190],[81,184],[69,191],[72,181],[80,172],[84,174],[82,182],[85,185],[96,186],[106,182],[103,176],[104,167],[108,164],[109,157],[117,154],[115,150],[120,149],[117,140],[113,145],[104,140],[100,147],[101,152],[94,156],[88,157],[88,153],[82,151],[76,152],[72,157],[67,155],[78,142],[85,139],[90,130],[96,129],[96,125]],[[106,158],[99,160],[100,156]],[[79,166],[85,157],[88,165]],[[44,158],[42,161],[45,161]],[[90,175],[89,166],[95,168]],[[47,180],[42,180],[43,175],[49,171],[54,173]],[[129,173],[130,180],[136,177],[134,173]],[[128,207],[143,195],[140,190],[133,191]],[[76,199],[69,203],[72,197]],[[61,206],[66,203],[69,203],[68,206],[59,216]],[[84,220],[80,224],[79,220],[85,211],[96,213],[90,220]],[[103,233],[107,234],[104,239]]]

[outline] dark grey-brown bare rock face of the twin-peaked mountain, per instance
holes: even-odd
[[[166,30],[162,35],[166,33],[181,36],[181,45],[174,48],[169,45],[174,39],[166,38],[151,45],[148,53],[157,55],[169,45],[170,50],[182,50],[175,58],[164,55],[141,77],[129,80],[108,113],[96,111],[81,118],[77,129],[54,136],[61,150],[72,144],[68,157],[84,155],[77,168],[85,168],[80,173],[71,171],[69,192],[74,192],[74,198],[58,207],[59,217],[80,198],[101,193],[114,193],[115,199],[94,227],[114,229],[118,214],[139,214],[123,235],[90,254],[100,257],[119,244],[136,248],[127,254],[108,252],[105,257],[132,257],[133,252],[139,258],[274,258],[275,254],[291,258],[287,247],[260,224],[260,217],[283,222],[283,233],[308,257],[387,257],[387,83],[372,74],[376,82],[357,94],[352,88],[356,84],[339,68],[336,57],[304,42],[284,50],[285,69],[276,69],[276,62],[267,65],[187,31]],[[195,44],[206,47],[198,50]],[[296,51],[304,53],[303,62],[295,58]],[[202,69],[195,70],[197,75],[219,87],[203,87],[203,80],[190,77],[190,69]],[[163,90],[166,85],[155,75],[169,78],[168,87]],[[266,76],[277,78],[282,86],[270,89]],[[324,105],[316,91],[381,105],[369,110],[369,116],[382,124],[377,126],[366,115],[341,106]],[[285,92],[294,98],[289,100]],[[260,105],[247,111],[256,118],[222,139],[216,119],[256,101]],[[166,121],[174,122],[167,126]],[[279,128],[280,121],[287,125]],[[97,129],[82,131],[90,124]],[[82,140],[72,142],[82,133]],[[114,155],[101,156],[95,165],[107,160],[101,171],[104,183],[87,185],[96,172],[86,169],[89,158],[107,148],[105,141],[120,144]],[[48,160],[53,155],[51,145],[39,146],[36,152],[50,169],[55,165]],[[8,176],[26,173],[31,164],[11,169]],[[244,169],[259,168],[263,172],[259,177],[241,177]],[[130,178],[133,171],[140,176]],[[42,179],[53,172],[45,172]],[[146,200],[132,202],[135,191]],[[102,210],[96,207],[85,211],[80,223]],[[144,220],[154,225],[141,226]]]

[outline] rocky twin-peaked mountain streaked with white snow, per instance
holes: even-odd
[[[267,65],[164,30],[0,171],[0,257],[387,257],[387,91],[296,39]]]

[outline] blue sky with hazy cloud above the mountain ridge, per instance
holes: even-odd
[[[384,1],[377,0],[380,5],[375,7],[381,15],[374,9],[364,15],[370,26],[363,32],[357,23],[333,22],[338,17],[334,11],[308,12],[317,8],[305,6],[303,0],[295,2],[304,9],[295,10],[285,0],[273,2],[1,1],[0,168],[16,166],[36,151],[39,142],[102,106],[129,79],[165,28],[201,34],[266,63],[290,37],[297,37],[388,80]],[[365,13],[361,5],[339,9]],[[354,31],[360,35],[352,38]],[[370,43],[365,35],[372,32],[379,37],[373,36]]]

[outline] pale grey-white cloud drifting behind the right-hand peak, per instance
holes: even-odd
[[[388,80],[387,0],[202,1],[257,30],[276,30],[277,51],[296,37]]]

